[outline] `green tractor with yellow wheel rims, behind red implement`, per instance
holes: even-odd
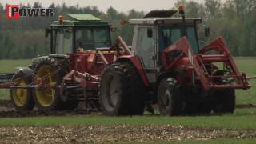
[[[16,110],[32,110],[35,104],[39,110],[74,110],[79,100],[83,99],[81,86],[75,82],[66,84],[66,90],[62,91],[66,93],[62,94],[65,97],[58,95],[61,93],[59,89],[39,90],[34,87],[34,82],[38,80],[34,78],[35,75],[37,78],[48,75],[49,78],[46,79],[49,79],[50,86],[57,86],[62,82],[69,71],[66,54],[111,46],[108,22],[90,14],[70,14],[69,17],[70,20],[64,20],[59,16],[58,21],[46,27],[46,38],[50,38],[50,54],[32,59],[29,67],[19,67],[18,72],[13,75],[12,82],[19,86],[10,90]],[[30,86],[31,88],[27,88]],[[68,98],[70,95],[75,98]]]

